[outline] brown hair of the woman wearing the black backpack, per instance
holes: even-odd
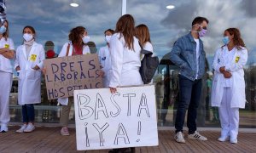
[[[139,26],[136,26],[135,29],[136,37],[140,41],[141,45],[144,45],[146,42],[151,42],[148,26],[141,24]]]

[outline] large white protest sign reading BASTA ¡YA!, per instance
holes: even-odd
[[[158,145],[154,85],[74,91],[77,150]]]

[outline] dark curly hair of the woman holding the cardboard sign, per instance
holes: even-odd
[[[84,26],[77,26],[69,31],[68,39],[73,44],[83,44],[83,39],[81,35],[83,35],[84,31],[86,31]]]

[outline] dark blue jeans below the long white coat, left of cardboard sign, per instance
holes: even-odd
[[[22,105],[23,122],[35,121],[35,109],[33,104]]]

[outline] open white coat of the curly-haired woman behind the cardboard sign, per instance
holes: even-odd
[[[73,54],[73,45],[72,45],[72,42],[66,42],[66,43],[63,45],[63,47],[61,48],[61,53],[59,54],[58,57],[64,57],[64,56],[66,56],[68,43],[70,43],[68,56],[72,56],[72,54]],[[83,46],[83,54],[90,54],[90,48],[89,48],[87,45],[84,45],[84,46]],[[61,99],[58,99],[58,102],[61,103],[61,105],[67,105],[67,104],[68,104],[68,98],[61,98]]]

